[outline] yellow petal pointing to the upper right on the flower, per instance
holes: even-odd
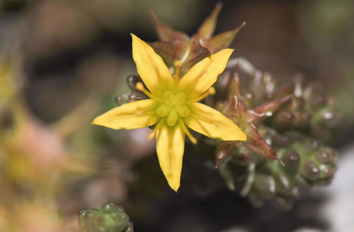
[[[188,99],[203,94],[215,83],[217,76],[224,71],[233,51],[233,49],[224,49],[198,62],[182,77],[179,82],[179,90],[185,91],[188,94]]]

